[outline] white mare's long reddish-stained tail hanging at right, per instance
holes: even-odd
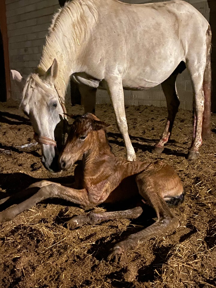
[[[203,78],[204,92],[204,113],[202,118],[202,138],[210,137],[210,120],[211,120],[211,28],[208,26],[206,31],[206,66]]]

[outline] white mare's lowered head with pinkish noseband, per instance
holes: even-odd
[[[41,144],[42,163],[52,172],[58,169],[58,151],[64,142],[65,108],[54,83],[58,64],[54,59],[51,67],[43,76],[32,73],[25,80],[19,72],[11,70],[13,79],[23,91],[21,107],[29,117],[35,140]]]

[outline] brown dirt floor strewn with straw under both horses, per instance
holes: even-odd
[[[83,112],[78,105],[67,106],[67,111]],[[113,152],[125,157],[111,105],[98,105],[96,115],[112,124],[107,132]],[[203,141],[196,161],[185,158],[192,136],[191,112],[179,111],[172,139],[161,155],[152,154],[151,148],[164,128],[166,109],[130,106],[126,115],[137,159],[163,159],[182,179],[185,202],[172,208],[180,226],[140,245],[121,262],[108,261],[116,242],[155,220],[152,211],[146,209],[136,221],[110,220],[72,231],[65,228],[65,219],[84,211],[63,201],[47,200],[0,224],[0,287],[216,287],[216,115],[211,118],[211,137]],[[73,170],[57,174],[45,170],[39,145],[19,147],[35,141],[17,102],[0,103],[0,135],[0,198],[5,193],[22,193],[38,179],[73,181]]]

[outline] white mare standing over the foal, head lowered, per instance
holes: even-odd
[[[162,85],[168,118],[154,148],[155,152],[162,152],[179,107],[176,77],[185,67],[194,94],[193,139],[188,159],[198,158],[201,132],[204,136],[210,133],[210,45],[207,20],[184,1],[67,2],[53,18],[37,73],[24,80],[19,72],[12,71],[13,79],[23,89],[21,107],[41,143],[44,166],[57,170],[55,146],[62,142],[63,103],[70,75],[79,84],[85,113],[95,113],[97,88],[107,89],[127,158],[132,161],[136,155],[128,136],[123,88],[139,90]]]

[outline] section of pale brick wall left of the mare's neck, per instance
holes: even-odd
[[[58,0],[6,0],[7,34],[10,69],[26,77],[37,67],[52,15]],[[11,81],[11,97],[21,93]]]

